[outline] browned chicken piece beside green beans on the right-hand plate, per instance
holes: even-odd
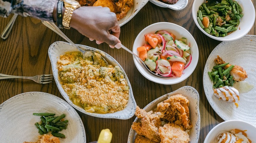
[[[222,60],[222,58],[220,56],[217,56],[217,58],[214,60],[214,62],[219,65],[225,63],[224,60]],[[228,64],[228,65],[224,66],[224,69],[226,69],[230,66],[231,66],[231,64]],[[246,71],[242,67],[237,66],[237,65],[235,65],[235,67],[230,71],[230,75],[233,76],[233,80],[235,80],[235,81],[244,81],[245,78],[248,77]]]

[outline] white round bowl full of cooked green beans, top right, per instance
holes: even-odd
[[[193,19],[208,37],[233,41],[244,37],[255,21],[255,8],[250,0],[194,0]]]

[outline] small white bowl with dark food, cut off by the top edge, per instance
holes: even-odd
[[[162,7],[162,8],[170,8],[173,10],[181,10],[184,9],[187,6],[188,0],[178,0],[176,4],[165,4],[163,2],[160,2],[159,0],[149,0],[151,3]]]

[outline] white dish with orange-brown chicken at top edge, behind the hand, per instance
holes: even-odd
[[[120,26],[130,21],[139,10],[146,5],[148,0],[76,0],[81,6],[108,7],[116,13]]]

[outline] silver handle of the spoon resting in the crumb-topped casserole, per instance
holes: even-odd
[[[73,43],[60,29],[52,22],[43,21],[42,23],[47,26],[48,28],[52,29],[55,33],[57,33],[59,36],[61,36],[63,39],[67,40],[69,43],[71,43],[73,46],[75,46],[81,53],[85,53],[82,49],[80,49],[75,43]]]

